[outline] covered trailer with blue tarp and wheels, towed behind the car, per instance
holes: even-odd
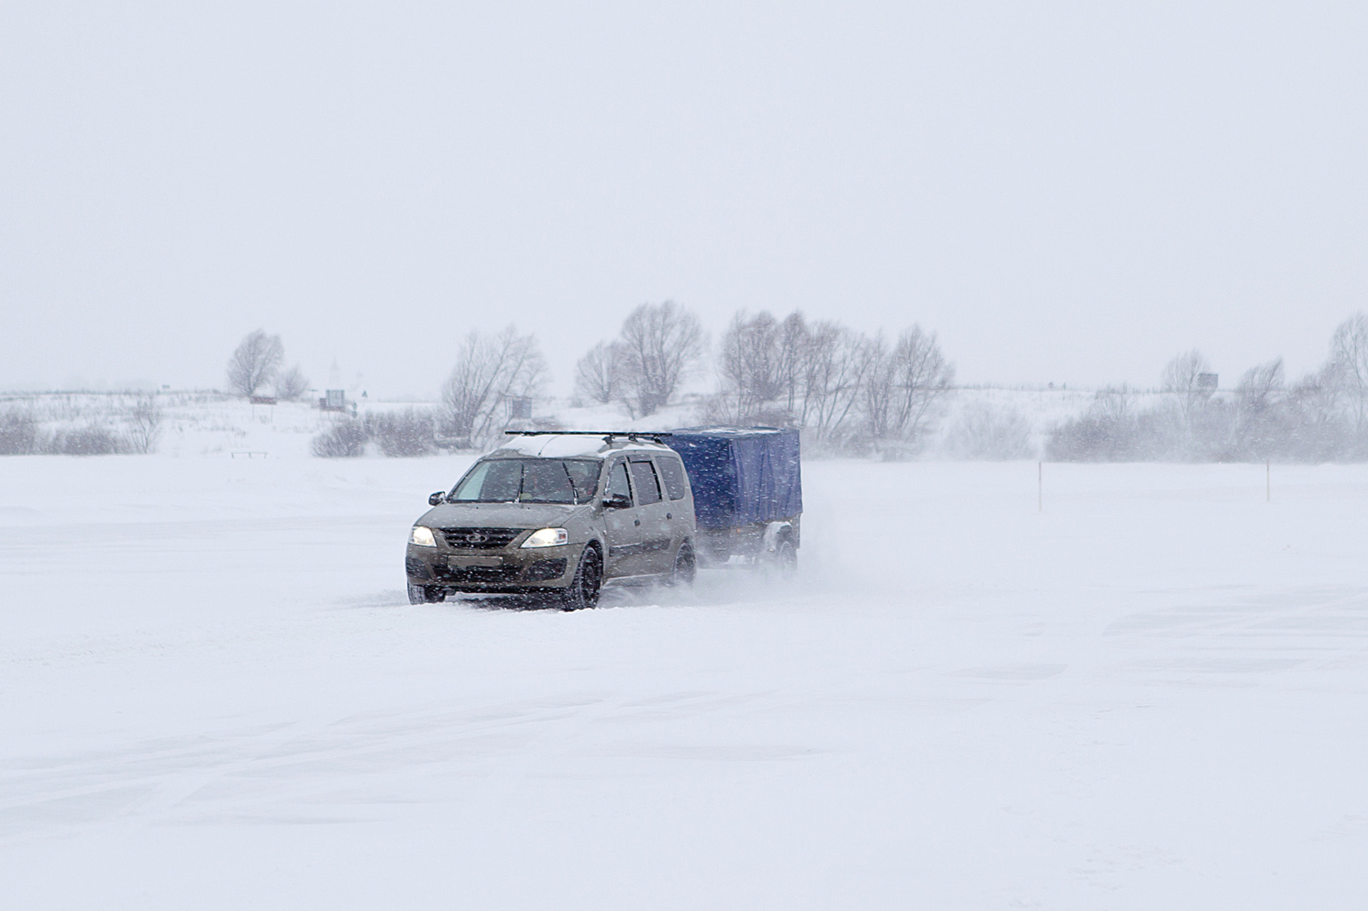
[[[702,565],[798,566],[803,471],[796,430],[688,427],[661,442],[688,472]]]

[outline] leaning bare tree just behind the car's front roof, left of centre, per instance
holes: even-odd
[[[472,331],[442,387],[443,432],[468,446],[483,443],[498,430],[495,421],[505,399],[531,394],[544,373],[536,336],[518,335],[512,326],[494,336]]]

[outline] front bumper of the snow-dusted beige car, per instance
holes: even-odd
[[[449,592],[517,594],[565,588],[575,579],[584,544],[508,547],[495,551],[409,544],[404,569],[413,585]]]

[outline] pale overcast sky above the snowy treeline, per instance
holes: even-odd
[[[643,301],[969,383],[1313,368],[1368,308],[1368,4],[0,4],[0,387],[432,394]]]

